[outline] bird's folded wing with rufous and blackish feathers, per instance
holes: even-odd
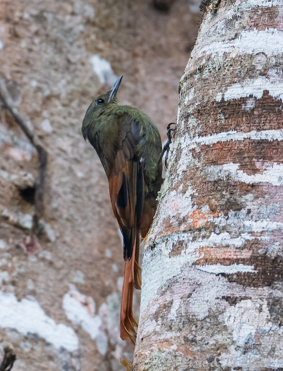
[[[137,144],[143,139],[139,122],[128,114],[118,120],[116,157],[109,176],[112,209],[124,238],[124,259],[129,260],[137,238],[144,205],[144,167]]]

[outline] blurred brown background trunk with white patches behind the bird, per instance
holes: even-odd
[[[13,344],[14,371],[123,370],[120,353],[132,357],[119,338],[118,224],[80,129],[91,101],[124,74],[120,102],[166,138],[200,14],[197,1],[164,3],[0,0],[0,72],[49,155],[42,234],[29,246],[37,154],[1,109],[0,349]]]

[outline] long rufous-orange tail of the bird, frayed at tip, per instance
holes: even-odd
[[[142,281],[140,279],[139,253],[140,253],[140,236],[139,231],[136,233],[136,239],[133,247],[133,255],[130,260],[125,262],[124,283],[121,298],[120,312],[120,338],[127,340],[130,338],[134,344],[136,339],[137,322],[133,315],[133,292],[134,288],[140,289]]]

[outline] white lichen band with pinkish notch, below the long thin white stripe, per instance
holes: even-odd
[[[262,174],[248,175],[243,170],[238,170],[240,164],[212,165],[206,167],[204,174],[207,181],[233,180],[246,184],[270,183],[274,186],[283,185],[283,164],[276,162],[272,167],[267,167]]]

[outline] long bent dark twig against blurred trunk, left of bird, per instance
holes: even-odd
[[[14,120],[23,130],[24,134],[29,138],[31,144],[37,150],[38,153],[38,177],[35,185],[35,196],[34,196],[34,215],[33,215],[33,227],[31,234],[38,232],[39,220],[43,215],[44,205],[44,184],[46,177],[46,165],[47,165],[47,151],[44,149],[37,135],[27,126],[26,122],[21,118],[19,112],[13,104],[13,100],[6,88],[6,84],[3,78],[0,76],[0,99],[4,103],[4,107],[8,109]],[[1,371],[1,370],[0,370]]]

